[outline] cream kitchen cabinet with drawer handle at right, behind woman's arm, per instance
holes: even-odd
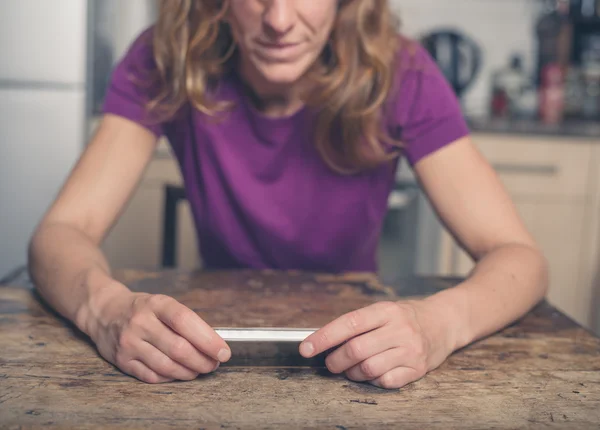
[[[550,265],[548,300],[579,323],[595,316],[600,142],[476,133],[526,227]],[[443,233],[440,274],[464,276],[470,257]]]

